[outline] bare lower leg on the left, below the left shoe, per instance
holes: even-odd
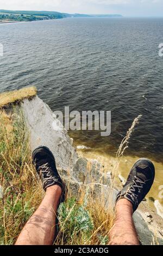
[[[53,244],[60,197],[61,188],[58,185],[47,188],[45,198],[21,231],[15,245]]]

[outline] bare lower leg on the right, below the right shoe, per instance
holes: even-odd
[[[130,201],[119,200],[116,204],[116,221],[109,235],[109,245],[140,245],[132,215],[133,205]]]

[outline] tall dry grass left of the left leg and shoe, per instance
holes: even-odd
[[[15,110],[16,111],[16,110]],[[42,199],[21,112],[0,111],[0,244],[11,245]]]

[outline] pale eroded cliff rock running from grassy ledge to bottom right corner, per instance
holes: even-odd
[[[90,163],[78,157],[73,140],[49,106],[35,96],[32,100],[24,99],[21,108],[29,129],[31,150],[44,145],[53,152],[60,175],[69,183],[72,195],[77,197],[83,187],[91,190],[93,183],[93,193],[103,198],[106,209],[110,201],[114,207],[118,192],[110,188],[110,177],[104,176],[103,166],[96,160]],[[151,228],[140,211],[134,213],[134,222],[143,245],[153,244],[153,237],[157,237],[158,243],[163,245],[157,228]]]

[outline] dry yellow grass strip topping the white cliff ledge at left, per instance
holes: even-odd
[[[20,90],[4,92],[0,94],[0,108],[8,104],[17,103],[25,98],[32,98],[36,96],[36,87],[25,87]]]

